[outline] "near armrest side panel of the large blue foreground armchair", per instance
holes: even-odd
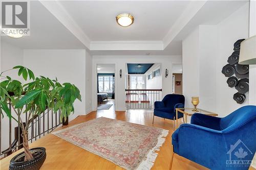
[[[222,131],[193,124],[182,124],[177,130],[177,154],[208,168],[225,168],[228,157]]]

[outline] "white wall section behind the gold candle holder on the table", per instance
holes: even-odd
[[[199,26],[182,42],[185,107],[199,96],[199,108],[216,111],[216,37],[215,26]]]

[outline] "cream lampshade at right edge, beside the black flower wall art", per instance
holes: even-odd
[[[239,64],[256,64],[256,35],[241,42]]]

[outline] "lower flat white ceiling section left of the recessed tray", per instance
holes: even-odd
[[[40,2],[30,2],[30,36],[11,38],[2,36],[1,41],[22,49],[84,49],[79,41]]]

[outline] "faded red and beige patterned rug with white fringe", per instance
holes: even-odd
[[[168,130],[100,117],[53,134],[125,169],[151,169]]]

